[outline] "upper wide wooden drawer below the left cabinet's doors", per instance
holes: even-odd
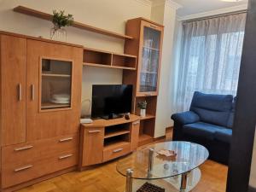
[[[22,163],[50,158],[55,154],[67,150],[79,148],[78,135],[69,135],[44,139],[32,143],[11,145],[2,148],[3,165],[12,164],[17,161]]]

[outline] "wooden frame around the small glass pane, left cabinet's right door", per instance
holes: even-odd
[[[35,49],[36,48],[36,49]],[[40,112],[40,58],[73,61],[71,109]],[[83,49],[27,40],[27,141],[56,137],[79,131]],[[32,99],[34,85],[34,100]]]

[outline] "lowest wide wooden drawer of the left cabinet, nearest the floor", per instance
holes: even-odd
[[[49,173],[57,172],[78,164],[78,150],[67,151],[55,154],[49,159],[36,160],[31,162],[20,162],[2,166],[2,187],[30,181]]]

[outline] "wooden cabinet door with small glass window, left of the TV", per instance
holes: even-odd
[[[82,48],[27,40],[27,141],[57,137],[79,131],[82,56]],[[51,61],[54,61],[54,64]],[[61,70],[55,70],[55,67],[59,67],[58,63],[62,62],[71,63],[69,72],[72,73],[66,73],[65,67],[63,74],[60,73]],[[48,64],[50,66],[47,66]],[[49,93],[46,93],[47,90],[44,88],[44,78],[49,79]],[[65,80],[66,78],[69,79],[68,82]],[[58,83],[61,85],[57,86]],[[63,84],[68,84],[70,87],[70,100],[67,107],[65,107],[66,104],[60,107],[60,103],[52,101],[55,97],[51,97],[56,93],[60,96],[63,91],[67,91],[66,88],[63,88]],[[49,107],[45,107],[45,94],[48,94],[49,97]],[[64,97],[63,99],[65,103],[67,98]]]

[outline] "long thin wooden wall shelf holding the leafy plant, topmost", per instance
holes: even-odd
[[[15,7],[14,11],[18,12],[20,14],[30,15],[30,16],[37,17],[37,18],[40,18],[40,19],[43,19],[43,20],[50,20],[50,21],[52,20],[52,16],[53,16],[53,15],[38,11],[36,9],[26,8],[24,6]],[[102,35],[107,35],[107,36],[110,36],[110,37],[113,37],[113,38],[132,39],[131,36],[119,34],[117,32],[110,32],[108,30],[101,29],[101,28],[98,28],[98,27],[95,27],[95,26],[90,26],[90,25],[80,23],[80,22],[77,22],[77,21],[73,22],[73,27],[83,29],[83,30],[86,30],[86,31],[90,31],[90,32],[100,33]]]

